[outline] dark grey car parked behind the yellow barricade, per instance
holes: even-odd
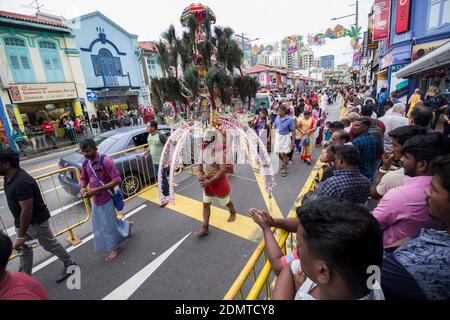
[[[160,125],[158,130],[167,136],[170,136],[171,129],[169,126]],[[114,155],[118,152],[140,147],[147,144],[148,132],[146,126],[125,127],[105,132],[94,138],[98,152],[105,155]],[[139,150],[141,153],[142,150]],[[151,156],[147,159],[140,158],[138,152],[127,152],[119,156],[113,156],[112,159],[119,169],[122,177],[120,185],[125,197],[131,197],[138,193],[145,183],[157,180],[154,170],[145,169],[153,168]],[[85,157],[80,150],[69,154],[60,159],[59,167],[61,169],[67,167],[76,167],[81,172],[81,167]],[[74,196],[79,196],[80,186],[74,172],[67,171],[61,173],[58,179],[64,189]],[[149,181],[151,180],[151,181]]]

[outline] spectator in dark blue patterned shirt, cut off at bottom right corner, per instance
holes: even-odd
[[[429,213],[445,223],[447,230],[423,229],[385,255],[381,286],[389,300],[450,299],[450,156],[435,159],[431,167]]]

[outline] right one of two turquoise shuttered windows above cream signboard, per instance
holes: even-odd
[[[55,43],[51,41],[39,41],[42,65],[48,82],[64,82],[64,71],[59,59],[59,51]]]

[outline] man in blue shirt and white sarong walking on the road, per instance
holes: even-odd
[[[275,129],[274,152],[283,161],[281,166],[281,176],[287,176],[287,166],[289,164],[288,154],[295,146],[294,119],[287,115],[287,107],[282,105],[278,108],[278,117],[275,119],[273,127]]]

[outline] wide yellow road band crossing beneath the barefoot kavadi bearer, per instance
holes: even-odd
[[[157,188],[152,188],[139,195],[139,197],[158,205],[160,203]],[[166,208],[203,223],[203,203],[201,201],[176,194],[175,205],[172,206],[169,204]],[[210,225],[240,238],[254,242],[258,241],[258,231],[260,228],[253,222],[253,219],[238,214],[235,222],[228,223],[227,220],[229,217],[230,213],[228,210],[212,206]]]

